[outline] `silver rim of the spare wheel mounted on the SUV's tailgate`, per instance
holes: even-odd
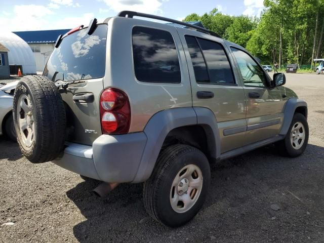
[[[17,104],[17,120],[22,145],[29,149],[35,138],[35,123],[30,98],[22,94]]]

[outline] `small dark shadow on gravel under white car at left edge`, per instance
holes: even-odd
[[[14,161],[22,156],[17,143],[10,141],[4,136],[0,136],[0,159],[7,158],[10,161]]]

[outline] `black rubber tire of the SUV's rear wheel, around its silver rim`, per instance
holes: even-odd
[[[191,208],[178,213],[170,202],[172,183],[180,170],[195,165],[203,175],[203,187]],[[191,220],[203,206],[210,184],[210,165],[200,150],[187,145],[172,145],[163,150],[157,159],[151,177],[144,183],[144,205],[147,213],[156,221],[170,227],[179,227]]]

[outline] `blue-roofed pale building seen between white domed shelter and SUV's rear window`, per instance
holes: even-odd
[[[57,37],[65,34],[70,29],[56,30],[36,30],[36,31],[17,31],[20,36],[30,46],[36,61],[36,70],[43,71],[45,64],[54,49]]]

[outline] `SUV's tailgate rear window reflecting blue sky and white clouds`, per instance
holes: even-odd
[[[62,39],[45,66],[45,76],[54,82],[104,76],[107,25],[98,25],[91,35],[87,32],[88,28],[85,28]]]

